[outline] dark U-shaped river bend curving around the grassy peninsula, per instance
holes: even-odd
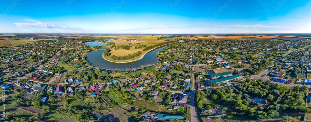
[[[181,40],[180,42],[184,41]],[[159,59],[156,57],[156,53],[167,46],[168,45],[157,47],[156,49],[153,49],[150,52],[146,53],[146,55],[141,60],[129,63],[113,63],[110,61],[106,61],[102,57],[104,51],[93,51],[87,54],[86,61],[89,62],[95,68],[99,68],[105,71],[122,72],[122,71],[139,70],[145,67],[155,65],[159,61]]]

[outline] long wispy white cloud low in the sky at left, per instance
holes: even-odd
[[[31,19],[24,19],[25,21],[31,21],[31,22],[18,22],[13,23],[18,27],[25,27],[25,28],[59,28],[59,29],[83,29],[81,27],[70,27],[65,25],[58,25],[53,22],[41,22],[37,20],[31,20]]]

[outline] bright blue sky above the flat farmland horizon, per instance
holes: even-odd
[[[8,0],[0,4],[0,33],[311,33],[310,5],[310,0]]]

